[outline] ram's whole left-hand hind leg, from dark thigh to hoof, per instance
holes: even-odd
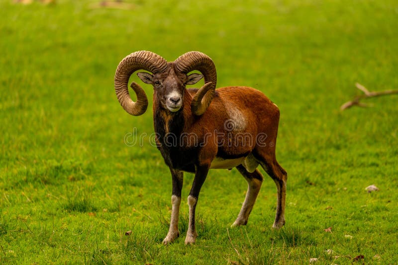
[[[250,212],[253,209],[254,202],[257,199],[257,195],[260,192],[261,184],[263,183],[263,176],[257,169],[250,173],[242,165],[236,167],[240,174],[247,181],[247,193],[245,201],[243,202],[242,208],[240,209],[239,215],[236,218],[232,226],[246,225],[249,219]]]

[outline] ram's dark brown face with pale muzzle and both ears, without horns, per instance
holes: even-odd
[[[139,72],[137,75],[144,83],[153,85],[161,106],[171,112],[177,112],[183,106],[185,86],[196,84],[203,77],[198,73],[187,75],[179,72],[173,65],[169,65],[164,72],[153,75]]]

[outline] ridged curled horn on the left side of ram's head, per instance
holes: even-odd
[[[131,83],[131,88],[137,95],[137,102],[131,100],[128,93],[128,79],[136,70],[143,69],[152,73],[164,71],[167,61],[161,56],[147,51],[139,51],[126,56],[117,66],[115,73],[115,92],[117,100],[123,109],[134,116],[144,114],[148,107],[145,91],[137,83]]]

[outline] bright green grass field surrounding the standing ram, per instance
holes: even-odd
[[[0,264],[398,263],[398,96],[339,111],[360,94],[355,82],[398,89],[396,0],[95,2],[0,0]],[[271,228],[268,176],[247,226],[230,228],[247,185],[236,169],[211,170],[197,243],[185,246],[186,173],[182,236],[162,245],[169,170],[148,138],[123,140],[153,133],[152,102],[130,116],[113,88],[138,50],[169,61],[201,51],[218,87],[252,86],[278,104],[283,229]],[[367,193],[372,184],[380,191]]]

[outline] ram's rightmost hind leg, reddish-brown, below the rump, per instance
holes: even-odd
[[[278,164],[275,156],[261,156],[257,155],[256,159],[267,172],[268,175],[274,180],[277,191],[278,191],[278,201],[277,201],[277,212],[275,215],[275,221],[273,228],[279,229],[285,224],[285,199],[286,199],[286,182],[288,180],[288,174],[286,171]]]

